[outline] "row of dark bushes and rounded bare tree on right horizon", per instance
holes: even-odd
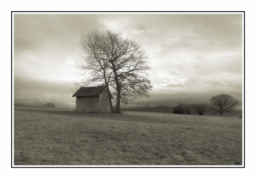
[[[232,112],[236,109],[238,105],[238,100],[230,95],[221,94],[213,96],[210,99],[210,104],[206,103],[179,103],[174,106],[172,112],[174,114],[192,114],[196,112],[198,115],[204,115],[207,109],[210,110],[212,114],[220,113],[220,116],[225,112]]]

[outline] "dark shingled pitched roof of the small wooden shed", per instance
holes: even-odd
[[[100,96],[100,93],[102,93],[105,88],[106,86],[81,87],[72,97]]]

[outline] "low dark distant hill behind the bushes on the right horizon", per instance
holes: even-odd
[[[124,111],[139,111],[139,112],[152,112],[152,113],[172,113],[173,107],[165,106],[165,105],[159,105],[157,107],[144,107],[144,108],[126,108]],[[229,117],[229,116],[239,116],[239,114],[242,114],[242,110],[235,110],[232,113],[223,113],[223,116]],[[197,115],[197,113],[193,112],[193,115]],[[219,113],[211,114],[210,111],[206,111],[204,113],[205,116],[220,116]]]

